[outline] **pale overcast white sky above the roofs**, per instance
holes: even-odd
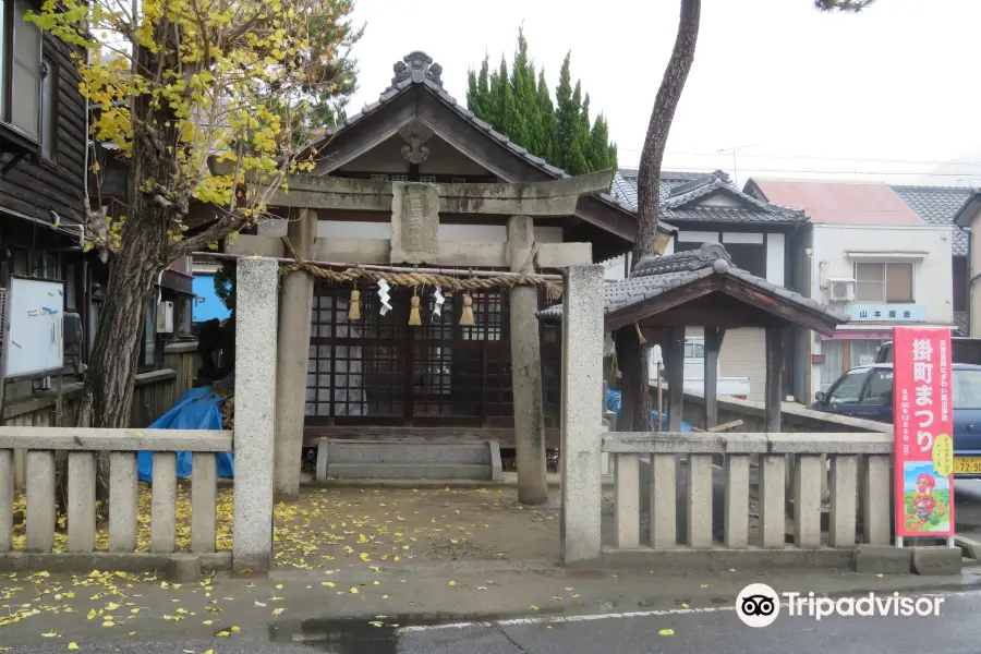
[[[468,68],[485,53],[510,62],[523,23],[553,93],[572,51],[620,166],[637,166],[678,13],[678,0],[359,0],[352,15],[367,28],[351,111],[414,49],[465,102]],[[820,14],[811,0],[704,0],[665,167],[731,173],[718,150],[739,148],[740,185],[758,174],[981,186],[979,25],[979,0],[879,0],[858,15]]]

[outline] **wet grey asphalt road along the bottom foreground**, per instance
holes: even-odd
[[[959,652],[981,651],[981,592],[942,595],[938,617],[788,617],[770,627],[744,626],[728,606],[630,614],[518,618],[458,626],[373,627],[364,620],[306,620],[283,623],[268,639],[193,642],[81,644],[80,654],[594,654],[743,652]],[[662,634],[670,629],[673,634]],[[2,634],[0,634],[2,635]],[[17,647],[34,654],[65,651],[64,643]]]

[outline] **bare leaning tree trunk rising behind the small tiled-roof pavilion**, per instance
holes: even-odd
[[[632,266],[645,256],[655,254],[657,241],[657,216],[659,213],[661,164],[667,146],[668,132],[685,89],[685,82],[694,61],[695,44],[699,38],[699,24],[702,13],[701,0],[681,0],[681,19],[678,35],[671,50],[671,58],[661,80],[651,122],[647,124],[647,136],[641,153],[640,170],[637,184],[637,240],[633,242]],[[625,335],[627,341],[630,336]],[[628,353],[620,359],[623,371],[623,387],[620,397],[621,414],[632,415],[634,428],[651,429],[651,410],[653,399],[649,388],[646,346],[634,343],[628,346]],[[635,360],[631,362],[630,360]],[[632,375],[628,379],[628,375]]]

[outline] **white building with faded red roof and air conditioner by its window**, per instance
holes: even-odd
[[[952,228],[925,223],[888,185],[754,178],[747,191],[807,211],[792,288],[850,317],[832,338],[795,335],[799,400],[872,363],[897,325],[954,327]]]

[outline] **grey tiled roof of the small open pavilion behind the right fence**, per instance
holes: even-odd
[[[650,257],[641,262],[628,279],[604,284],[603,312],[605,314],[615,313],[713,275],[735,277],[771,296],[779,298],[782,301],[826,314],[838,323],[848,322],[846,315],[825,304],[737,268],[732,265],[725,247],[718,243],[704,243],[699,250]],[[559,320],[562,317],[562,305],[556,304],[543,308],[537,316],[544,320]]]

